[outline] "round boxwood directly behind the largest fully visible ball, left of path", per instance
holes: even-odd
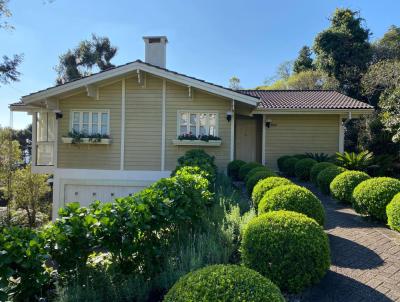
[[[258,212],[262,214],[278,210],[302,213],[324,225],[325,212],[321,201],[304,187],[285,185],[265,193],[258,205]]]

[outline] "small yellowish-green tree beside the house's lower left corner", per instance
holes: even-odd
[[[13,206],[26,212],[30,227],[36,226],[36,215],[43,208],[42,202],[50,192],[47,179],[45,174],[32,174],[30,166],[14,172]]]

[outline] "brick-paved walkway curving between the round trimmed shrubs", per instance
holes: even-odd
[[[400,301],[400,234],[362,218],[347,205],[308,187],[322,201],[332,266],[301,301]]]

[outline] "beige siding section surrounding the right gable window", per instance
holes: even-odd
[[[226,120],[226,112],[230,111],[231,100],[194,90],[193,98],[189,98],[188,87],[167,82],[166,96],[166,141],[165,169],[173,170],[177,159],[187,150],[201,148],[215,156],[217,166],[225,171],[230,160],[230,127]],[[177,138],[177,117],[179,110],[210,111],[218,113],[218,136],[222,138],[219,147],[175,146],[172,140]]]

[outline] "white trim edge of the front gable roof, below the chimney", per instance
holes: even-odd
[[[80,79],[76,79],[65,84],[53,86],[47,89],[39,90],[37,92],[23,96],[21,100],[24,104],[29,104],[34,101],[49,98],[60,93],[64,93],[73,89],[85,87],[88,85],[96,84],[99,81],[107,80],[113,77],[123,76],[128,73],[135,72],[137,70],[142,70],[150,74],[166,78],[171,81],[179,82],[184,85],[188,85],[193,88],[198,88],[201,90],[208,91],[223,97],[227,97],[236,101],[240,101],[246,104],[256,106],[259,98],[257,96],[252,96],[248,94],[240,93],[236,90],[232,90],[220,85],[216,85],[195,77],[190,77],[188,75],[171,71],[166,68],[155,66],[149,63],[142,62],[141,60],[136,60],[124,65],[116,66],[105,71],[100,71],[94,73],[90,76],[86,76]]]

